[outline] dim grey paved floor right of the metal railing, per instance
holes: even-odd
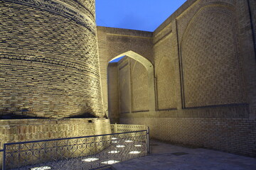
[[[112,165],[115,170],[256,170],[256,159],[151,140],[151,154]]]

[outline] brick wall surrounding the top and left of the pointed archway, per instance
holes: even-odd
[[[100,55],[100,74],[104,109],[107,110],[107,65],[117,55],[132,50],[153,60],[152,33],[141,30],[97,27],[97,41]]]

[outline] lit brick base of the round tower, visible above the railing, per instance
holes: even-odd
[[[9,142],[50,140],[110,133],[110,120],[105,118],[0,120],[0,149],[3,149],[4,143]],[[2,154],[0,155],[1,167]]]

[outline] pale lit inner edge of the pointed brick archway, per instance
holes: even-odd
[[[143,57],[142,55],[137,54],[136,52],[133,51],[128,51],[128,52],[124,52],[120,55],[117,55],[116,57],[113,57],[111,60],[109,60],[108,62],[111,62],[112,60],[115,60],[119,57],[122,56],[127,56],[132,58],[133,60],[136,60],[137,62],[139,62],[140,64],[142,64],[144,66],[144,68],[146,69],[146,73],[147,73],[147,86],[148,86],[148,109],[149,111],[155,111],[156,109],[156,102],[155,102],[155,90],[154,90],[154,66],[153,64],[151,64],[151,62],[149,62],[149,60],[147,60],[145,57]],[[110,102],[110,101],[109,101]]]

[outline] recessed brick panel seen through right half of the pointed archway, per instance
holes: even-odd
[[[146,68],[130,58],[132,112],[149,110],[149,87]]]

